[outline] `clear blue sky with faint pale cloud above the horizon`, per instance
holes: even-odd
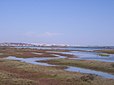
[[[0,0],[0,42],[114,46],[114,0]]]

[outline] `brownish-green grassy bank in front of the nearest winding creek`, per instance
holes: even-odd
[[[0,60],[0,85],[113,85],[114,80],[19,61]]]

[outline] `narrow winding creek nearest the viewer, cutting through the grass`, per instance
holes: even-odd
[[[51,59],[60,59],[60,58],[66,58],[66,57],[57,57],[57,58],[17,58],[15,56],[9,56],[6,59],[10,60],[19,60],[21,62],[26,62],[30,64],[35,64],[35,65],[42,65],[42,66],[57,66],[57,65],[52,65],[48,63],[42,63],[40,61],[42,60],[51,60]],[[79,68],[79,67],[72,67],[68,66],[67,69],[64,69],[66,71],[70,72],[80,72],[80,73],[88,73],[88,74],[95,74],[104,78],[111,78],[114,79],[114,75],[106,73],[106,72],[100,72],[100,71],[95,71],[95,70],[90,70],[90,69],[84,69],[84,68]]]

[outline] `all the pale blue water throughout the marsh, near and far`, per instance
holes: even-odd
[[[23,48],[23,47],[22,47]],[[27,47],[28,48],[28,47]],[[69,48],[55,48],[55,47],[30,47],[30,48],[35,48],[35,49],[65,49],[65,50],[86,50],[86,51],[93,51],[93,50],[101,50],[104,48],[74,48],[74,47],[69,47]],[[108,48],[106,48],[108,49]],[[51,51],[56,52],[56,51]],[[96,52],[81,52],[81,51],[71,51],[71,52],[61,52],[63,54],[73,54],[78,56],[78,58],[70,58],[70,59],[77,59],[77,60],[97,60],[101,62],[114,62],[114,55],[109,55],[108,57],[103,57],[99,56],[98,53]],[[26,62],[26,63],[31,63],[31,64],[36,64],[36,65],[42,65],[42,66],[56,66],[48,63],[42,63],[40,61],[42,60],[51,60],[51,59],[61,59],[61,58],[66,58],[64,56],[59,56],[56,55],[57,57],[54,58],[17,58],[14,56],[9,56],[7,59],[10,60],[19,60],[21,62]],[[95,71],[95,70],[90,70],[90,69],[85,69],[85,68],[79,68],[79,67],[72,67],[68,66],[67,69],[64,69],[66,71],[70,72],[80,72],[80,73],[88,73],[88,74],[95,74],[104,78],[111,78],[114,79],[114,75],[106,73],[106,72],[101,72],[101,71]]]

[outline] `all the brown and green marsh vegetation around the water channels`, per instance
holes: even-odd
[[[113,85],[113,79],[104,79],[95,75],[67,72],[63,68],[67,65],[78,65],[85,68],[99,68],[114,73],[114,64],[96,61],[77,61],[66,59],[45,61],[61,66],[45,67],[27,64],[20,61],[4,59],[8,56],[28,57],[56,57],[55,55],[73,57],[73,55],[51,53],[50,50],[0,48],[0,85]],[[62,52],[66,50],[60,50]],[[58,50],[57,50],[58,52]],[[55,54],[55,55],[54,55]],[[106,69],[107,67],[107,69]],[[104,70],[106,69],[106,70]]]

